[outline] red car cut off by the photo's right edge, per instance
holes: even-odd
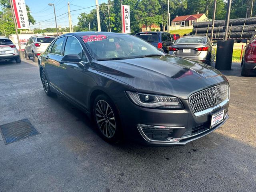
[[[247,39],[243,39],[242,42],[246,43]],[[241,66],[242,76],[249,76],[252,70],[256,70],[256,32],[254,32],[250,41],[244,47]]]

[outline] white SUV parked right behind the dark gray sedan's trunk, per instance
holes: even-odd
[[[25,47],[25,58],[29,60],[31,57],[34,62],[38,62],[38,55],[46,50],[48,45],[54,40],[53,36],[32,36],[29,38]]]

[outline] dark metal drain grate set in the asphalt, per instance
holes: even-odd
[[[6,145],[39,134],[28,119],[1,125],[0,131]]]

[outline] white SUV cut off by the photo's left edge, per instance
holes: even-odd
[[[8,38],[0,38],[0,60],[15,60],[20,63],[20,54],[13,42]]]

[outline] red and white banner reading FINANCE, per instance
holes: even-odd
[[[12,0],[18,29],[30,29],[25,0]]]

